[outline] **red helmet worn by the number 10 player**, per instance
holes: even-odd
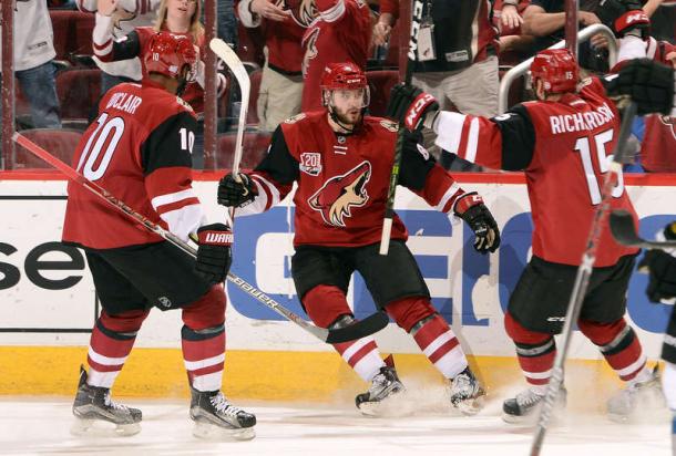
[[[188,65],[187,80],[192,81],[196,71],[197,52],[186,35],[157,32],[151,37],[143,61],[148,73],[160,73],[174,79],[181,76],[183,68]]]

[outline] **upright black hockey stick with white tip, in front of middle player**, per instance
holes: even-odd
[[[413,66],[416,65],[416,54],[418,52],[418,31],[422,21],[423,0],[414,0],[413,14],[411,18],[411,34],[409,38],[408,62],[403,83],[409,85],[413,79]],[[406,127],[399,125],[397,132],[397,144],[395,145],[395,159],[392,160],[392,172],[390,173],[390,184],[387,190],[387,201],[385,204],[385,218],[382,219],[382,234],[380,236],[380,255],[387,255],[390,249],[390,236],[392,232],[392,218],[395,217],[395,196],[397,184],[399,183],[399,167],[401,166],[401,152],[403,149],[403,134]]]

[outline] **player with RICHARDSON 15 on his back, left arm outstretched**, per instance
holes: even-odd
[[[619,113],[608,94],[631,95],[638,113],[668,112],[674,71],[649,60],[628,62],[618,74],[578,81],[566,50],[539,53],[531,65],[537,101],[485,118],[439,112],[433,97],[412,86],[396,86],[389,113],[409,128],[437,132],[444,151],[495,169],[525,172],[533,217],[533,256],[505,314],[508,334],[530,387],[504,402],[505,421],[534,416],[546,390],[569,298],[619,129]],[[634,214],[622,176],[612,208]],[[596,263],[577,325],[594,342],[626,388],[608,402],[613,417],[626,418],[635,393],[657,387],[656,374],[634,330],[627,325],[626,290],[637,250],[618,246],[604,228]]]

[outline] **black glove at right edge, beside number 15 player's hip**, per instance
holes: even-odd
[[[667,225],[662,235],[657,235],[658,240],[675,240],[676,222]],[[648,273],[646,294],[651,301],[660,302],[676,297],[676,258],[664,250],[651,249],[638,263],[638,270]]]

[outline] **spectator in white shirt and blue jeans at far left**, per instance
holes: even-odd
[[[52,62],[57,52],[47,2],[19,0],[16,4],[14,75],[30,104],[32,126],[60,128],[57,69]]]

